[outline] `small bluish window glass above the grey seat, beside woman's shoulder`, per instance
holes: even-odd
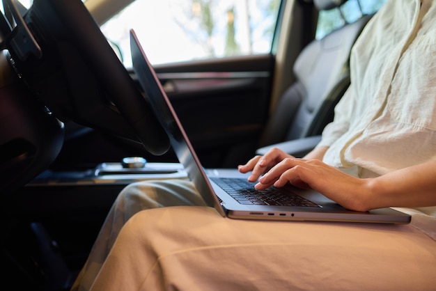
[[[316,38],[323,38],[328,33],[340,28],[345,23],[352,23],[362,15],[373,14],[377,12],[386,2],[386,0],[349,0],[339,8],[320,11],[318,17],[318,26],[316,29]]]

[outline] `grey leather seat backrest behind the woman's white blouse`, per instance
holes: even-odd
[[[314,2],[322,10],[345,1]],[[302,50],[293,67],[297,81],[277,102],[259,146],[320,134],[332,120],[334,105],[350,84],[350,51],[370,18],[371,15],[364,15],[320,40],[313,40]]]

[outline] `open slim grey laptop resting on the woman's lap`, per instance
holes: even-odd
[[[391,208],[350,211],[313,190],[289,185],[258,191],[254,189],[254,183],[247,182],[249,174],[242,174],[237,169],[203,168],[133,30],[130,31],[130,50],[139,84],[168,134],[180,164],[185,167],[206,205],[215,207],[222,217],[283,221],[410,222],[410,215]]]

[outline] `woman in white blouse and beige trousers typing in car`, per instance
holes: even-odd
[[[238,167],[257,189],[289,182],[350,210],[403,207],[409,225],[224,219],[189,181],[142,182],[117,198],[74,289],[434,290],[435,32],[434,0],[387,1],[353,47],[320,144]],[[176,205],[191,206],[162,207]]]

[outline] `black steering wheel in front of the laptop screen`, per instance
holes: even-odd
[[[63,122],[73,120],[140,142],[153,155],[169,150],[168,136],[145,95],[84,3],[34,0],[23,13],[17,1],[3,1],[17,23],[10,31],[0,23],[2,34],[8,34],[3,49],[47,110]]]

